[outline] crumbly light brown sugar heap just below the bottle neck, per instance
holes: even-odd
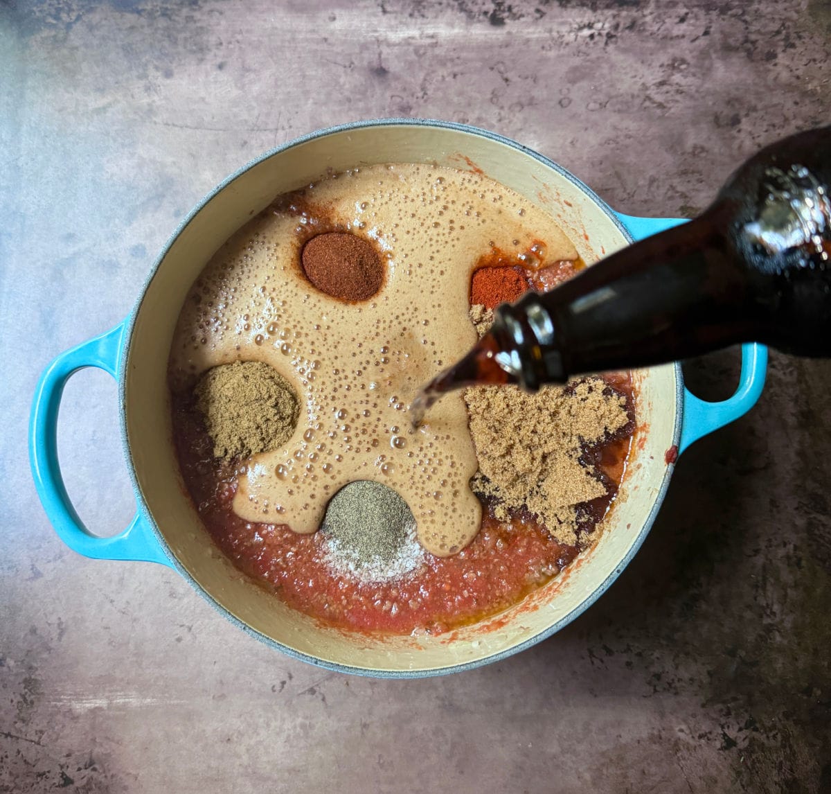
[[[482,334],[493,313],[474,305],[470,318]],[[606,493],[579,462],[583,443],[602,441],[627,423],[625,399],[589,377],[535,394],[514,386],[472,387],[465,402],[479,459],[473,490],[493,500],[498,520],[524,508],[558,543],[574,545],[576,505]]]

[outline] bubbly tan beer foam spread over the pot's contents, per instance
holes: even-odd
[[[381,291],[345,303],[312,286],[300,252],[314,229],[371,241],[386,263]],[[577,257],[553,218],[514,191],[414,164],[330,175],[239,229],[190,289],[170,353],[175,389],[209,367],[254,360],[297,390],[296,431],[246,461],[234,512],[307,534],[342,486],[373,480],[405,499],[432,554],[470,543],[481,506],[469,485],[478,464],[464,399],[447,395],[415,432],[408,410],[420,385],[476,341],[468,296],[477,260],[538,239],[548,262]]]

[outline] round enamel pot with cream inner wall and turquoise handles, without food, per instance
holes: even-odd
[[[666,453],[746,412],[759,397],[766,351],[746,345],[738,391],[720,403],[685,393],[681,367],[637,373],[632,459],[602,535],[558,579],[494,619],[449,636],[371,638],[318,624],[251,583],[214,547],[184,495],[170,442],[165,382],[170,340],[185,294],[219,245],[275,196],[327,169],[385,162],[478,168],[559,219],[588,263],[632,238],[680,223],[616,215],[583,183],[513,141],[438,121],[373,121],[321,131],[263,155],[214,190],[180,226],[125,323],[61,354],[43,373],[32,407],[30,457],[58,534],[81,554],[170,565],[220,613],[291,656],[352,673],[411,678],[470,668],[515,653],[563,628],[607,589],[635,554],[661,505],[673,466]],[[111,538],[90,535],[57,466],[56,426],[66,379],[82,367],[118,379],[125,456],[138,510]]]

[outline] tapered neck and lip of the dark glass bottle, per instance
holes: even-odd
[[[752,275],[725,229],[730,202],[604,259],[550,293],[500,307],[500,365],[536,389],[584,372],[647,367],[756,338]]]

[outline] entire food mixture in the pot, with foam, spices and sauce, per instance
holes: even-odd
[[[631,377],[468,389],[416,431],[407,409],[499,303],[582,267],[484,175],[371,166],[278,198],[199,276],[170,353],[214,543],[294,609],[369,632],[439,634],[548,583],[617,495]]]

